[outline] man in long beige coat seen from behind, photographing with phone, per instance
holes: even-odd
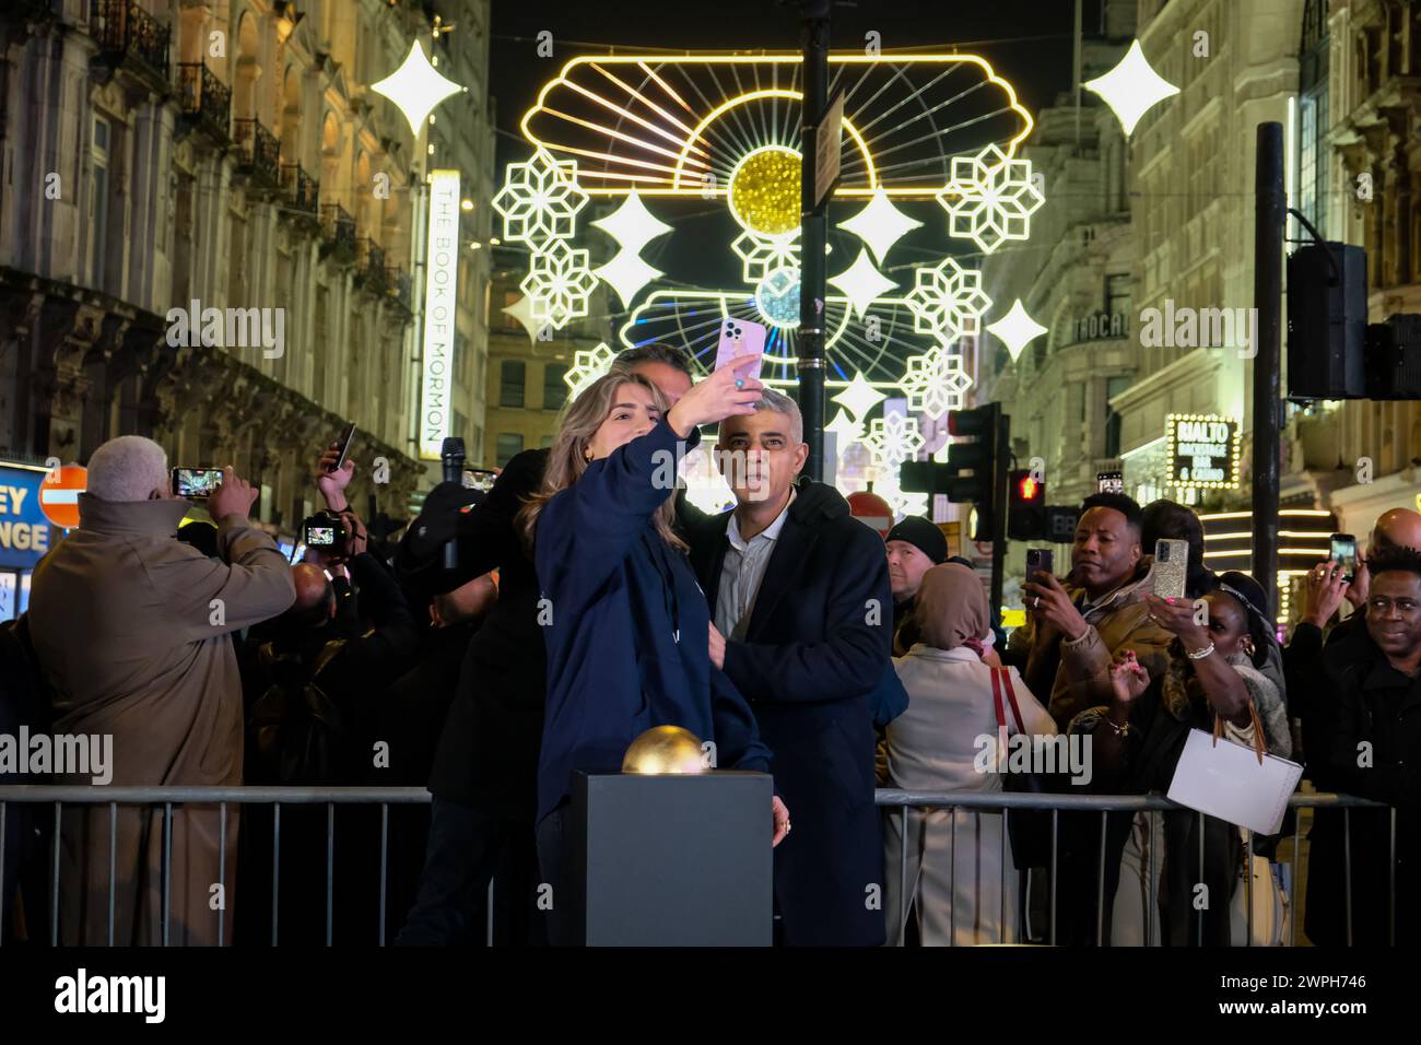
[[[119,436],[90,459],[78,529],[34,572],[30,630],[54,694],[54,732],[111,735],[115,786],[242,783],[242,682],[227,636],[296,599],[281,553],[247,520],[254,499],[229,465],[207,500],[223,562],[209,559],[175,537],[190,505],[171,493],[162,446]],[[232,938],[233,806],[226,827],[223,869],[219,809],[173,806],[172,945],[215,944],[219,920]],[[163,840],[162,806],[118,808],[115,944],[163,943]],[[64,810],[60,856],[61,943],[107,943],[107,805]]]

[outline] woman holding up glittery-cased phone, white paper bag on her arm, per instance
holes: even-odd
[[[1260,741],[1272,755],[1292,755],[1285,694],[1260,670],[1276,643],[1263,589],[1248,574],[1231,572],[1219,576],[1218,589],[1202,601],[1206,623],[1196,621],[1189,600],[1150,596],[1151,618],[1175,636],[1164,677],[1151,678],[1125,650],[1111,668],[1115,695],[1110,707],[1084,711],[1071,722],[1071,732],[1093,735],[1097,781],[1104,789],[1127,795],[1168,791],[1189,729],[1212,732],[1215,715],[1225,738],[1245,746]],[[1229,900],[1243,857],[1239,829],[1212,816],[1167,812],[1150,818],[1142,852],[1133,854],[1125,845],[1128,827],[1121,827],[1128,818],[1111,819],[1107,867],[1114,864],[1120,872],[1120,884],[1113,889],[1113,876],[1107,876],[1107,897],[1114,891],[1114,904],[1106,906],[1110,941],[1181,947],[1202,937],[1204,945],[1231,945]],[[1151,864],[1154,881],[1148,880]],[[1199,883],[1223,901],[1195,909]],[[1158,904],[1157,914],[1150,911],[1151,903]],[[1155,933],[1148,931],[1151,924]]]

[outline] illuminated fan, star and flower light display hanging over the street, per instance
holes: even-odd
[[[814,303],[824,385],[843,407],[827,431],[840,463],[847,461],[838,475],[850,488],[872,482],[891,503],[926,510],[925,496],[897,491],[895,468],[884,462],[921,446],[917,418],[936,421],[961,408],[971,378],[953,343],[978,333],[992,303],[980,273],[944,256],[942,232],[942,254],[928,253],[925,263],[926,252],[918,252],[914,263],[890,269],[890,254],[924,226],[926,215],[905,206],[914,202],[945,208],[949,235],[983,252],[1023,239],[1042,205],[1030,165],[1017,159],[1032,121],[1012,85],[973,55],[844,53],[830,55],[830,73],[845,94],[833,200],[860,206],[847,208],[857,213],[836,225],[844,235],[836,256],[848,246],[836,267],[847,267],[831,274],[830,293]],[[769,327],[762,380],[793,390],[801,354],[801,87],[797,53],[587,55],[563,65],[520,122],[533,158],[509,166],[496,200],[509,239],[533,253],[523,283],[529,297],[510,314],[527,311],[530,336],[540,324],[566,324],[587,309],[585,277],[601,277],[624,307],[614,318],[621,345],[679,344],[709,370],[722,321],[755,320]],[[557,206],[564,196],[571,203]],[[573,256],[577,243],[566,242],[588,196],[625,200],[597,222],[621,252],[595,270]],[[702,233],[693,249],[729,249],[739,280],[696,286],[644,260],[647,243],[671,230],[647,209],[651,198],[675,198],[684,203],[678,215],[699,216],[708,200],[723,208],[730,235],[712,243]],[[860,240],[857,250],[850,235]],[[685,254],[661,254],[671,257]],[[657,286],[658,279],[665,282]],[[580,373],[568,375],[570,387]],[[897,419],[871,418],[890,397]]]

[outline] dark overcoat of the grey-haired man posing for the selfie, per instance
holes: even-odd
[[[750,701],[790,810],[793,830],[774,850],[784,943],[875,945],[882,836],[870,694],[891,670],[888,560],[833,486],[801,479],[796,489],[745,641],[726,643],[725,674]],[[712,617],[729,522],[691,529]]]

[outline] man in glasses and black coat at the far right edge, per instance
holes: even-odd
[[[1395,808],[1353,809],[1351,931],[1347,930],[1347,837],[1339,810],[1317,810],[1307,866],[1309,938],[1319,947],[1387,945],[1421,931],[1408,876],[1421,857],[1421,553],[1383,549],[1367,560],[1361,627],[1314,657],[1307,680],[1307,769],[1322,791]],[[1390,910],[1391,897],[1395,910]]]

